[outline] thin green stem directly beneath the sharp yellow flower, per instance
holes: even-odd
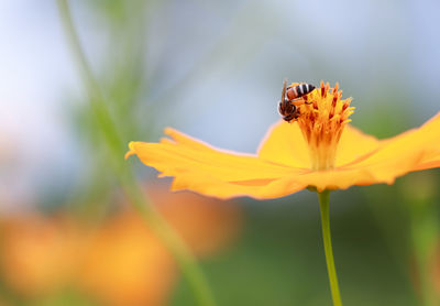
[[[330,234],[330,216],[329,216],[329,203],[330,203],[330,190],[323,190],[318,193],[319,206],[321,208],[321,223],[322,223],[322,238],[323,248],[326,251],[327,271],[329,273],[331,297],[334,306],[342,306],[341,294],[339,292],[337,270],[334,267],[333,249],[331,247],[331,234]]]

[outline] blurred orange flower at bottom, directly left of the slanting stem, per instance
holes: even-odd
[[[98,229],[78,270],[78,285],[103,305],[165,305],[177,270],[134,214]]]

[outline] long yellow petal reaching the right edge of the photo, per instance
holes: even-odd
[[[351,185],[394,183],[408,172],[439,166],[440,117],[380,142],[376,150],[333,171],[299,175],[295,182],[319,190],[348,188]],[[353,145],[356,145],[353,142]]]

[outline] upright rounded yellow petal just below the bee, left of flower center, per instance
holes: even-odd
[[[310,168],[309,147],[296,122],[279,120],[267,131],[260,144],[258,156],[273,163]]]

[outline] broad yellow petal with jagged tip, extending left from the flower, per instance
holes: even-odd
[[[131,142],[128,155],[136,154],[144,164],[162,172],[162,176],[174,176],[174,189],[191,189],[220,198],[244,195],[270,198],[306,187],[283,183],[283,178],[302,170],[276,165],[251,154],[218,150],[173,129],[165,132],[173,139],[161,143]]]

